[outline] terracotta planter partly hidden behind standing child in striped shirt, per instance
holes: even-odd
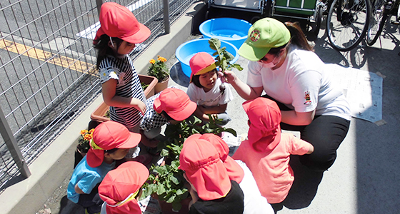
[[[146,83],[146,90],[144,90],[144,96],[149,98],[154,95],[154,87],[156,86],[157,79],[153,76],[141,75],[139,74],[139,79],[141,83]],[[106,112],[109,111],[109,106],[106,103],[101,102],[99,106],[91,113],[91,121],[95,121],[96,123],[103,123],[105,121],[109,121],[110,118],[105,117]]]

